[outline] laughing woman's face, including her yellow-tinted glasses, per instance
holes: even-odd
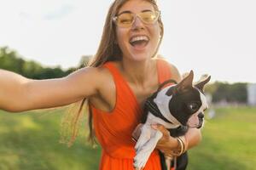
[[[160,19],[157,8],[145,1],[139,1],[135,7],[132,3],[125,3],[114,18],[117,19],[116,36],[123,55],[132,57],[136,54],[136,58],[140,60],[156,54],[161,41],[160,35],[163,34],[162,23],[156,22]],[[137,41],[140,39],[144,41]]]

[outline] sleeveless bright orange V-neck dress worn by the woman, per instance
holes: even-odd
[[[116,87],[116,104],[111,112],[97,110],[90,105],[93,114],[93,125],[96,138],[102,145],[101,170],[133,170],[135,142],[131,133],[137,127],[142,116],[142,109],[137,99],[119,70],[108,62],[103,65],[112,76]],[[171,78],[170,66],[165,60],[157,59],[159,83]],[[143,170],[160,170],[158,150],[149,156]]]

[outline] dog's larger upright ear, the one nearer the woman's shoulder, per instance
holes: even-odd
[[[183,78],[181,82],[177,83],[177,86],[175,87],[175,89],[168,90],[166,94],[170,96],[172,94],[177,94],[177,92],[183,92],[188,88],[192,88],[193,78],[194,78],[194,72],[190,71],[189,76]]]

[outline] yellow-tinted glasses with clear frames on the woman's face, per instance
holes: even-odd
[[[113,22],[119,27],[130,27],[138,17],[144,24],[151,25],[158,20],[160,11],[143,11],[139,14],[125,12],[113,17]]]

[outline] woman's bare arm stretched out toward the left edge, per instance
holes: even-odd
[[[0,109],[28,111],[68,105],[96,95],[97,68],[83,68],[67,77],[32,80],[0,70]]]

